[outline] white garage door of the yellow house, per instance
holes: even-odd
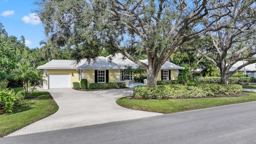
[[[70,74],[49,74],[49,88],[70,88]]]

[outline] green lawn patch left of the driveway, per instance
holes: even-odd
[[[20,88],[14,88],[18,92]],[[22,90],[22,88],[21,88]],[[58,105],[49,92],[33,92],[38,98],[23,100],[19,110],[0,115],[0,137],[54,114]]]

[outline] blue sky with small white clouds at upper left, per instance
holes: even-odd
[[[32,10],[35,0],[0,0],[0,22],[9,36],[26,39],[29,48],[40,48],[39,42],[46,40],[40,20],[36,20]]]

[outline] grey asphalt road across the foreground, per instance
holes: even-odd
[[[256,102],[11,136],[0,144],[256,144]]]

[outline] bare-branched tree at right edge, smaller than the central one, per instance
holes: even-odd
[[[212,25],[213,29],[221,29],[207,33],[214,45],[211,49],[213,54],[206,54],[209,48],[205,44],[198,47],[198,52],[205,59],[220,68],[221,84],[228,84],[228,78],[232,74],[256,62],[256,3],[251,0],[236,0],[231,4],[232,7],[227,7],[226,10],[213,11],[216,16],[226,14]],[[247,62],[230,72],[230,68],[240,60]]]

